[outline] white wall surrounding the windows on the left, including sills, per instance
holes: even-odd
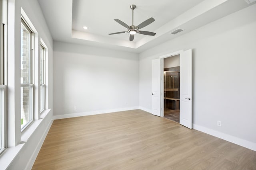
[[[52,123],[53,110],[44,118],[34,121],[21,133],[20,129],[20,29],[21,8],[36,30],[35,57],[38,57],[40,39],[48,48],[47,106],[53,109],[53,40],[37,0],[8,0],[8,148],[0,155],[0,169],[30,169]],[[38,43],[39,42],[39,43]],[[37,61],[37,59],[35,59]],[[35,67],[36,62],[35,62]],[[39,74],[39,72],[37,72]],[[38,79],[37,79],[38,80]],[[35,92],[38,82],[35,80]],[[37,96],[37,95],[36,95]],[[39,102],[35,99],[36,102]],[[35,103],[38,108],[38,103]],[[36,110],[36,109],[35,109]],[[35,116],[38,119],[38,116]],[[28,130],[30,129],[30,130]],[[33,131],[31,130],[33,129]],[[28,135],[29,134],[29,135]],[[8,164],[8,162],[11,162]]]

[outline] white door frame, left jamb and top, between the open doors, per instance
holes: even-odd
[[[160,98],[161,98],[161,117],[164,117],[164,59],[168,58],[168,57],[175,56],[175,55],[179,55],[183,51],[184,50],[175,51],[175,52],[172,52],[172,53],[161,55],[159,57],[161,59],[161,61],[160,61],[160,64],[161,64],[161,93],[160,93]]]

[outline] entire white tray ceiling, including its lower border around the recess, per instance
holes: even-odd
[[[188,33],[202,25],[249,6],[244,0],[38,0],[55,41],[107,47],[140,53],[159,43]],[[108,35],[127,31],[114,21],[119,19],[134,25],[153,17],[156,21],[142,28],[155,32],[155,36],[136,34]],[[87,26],[88,29],[83,29]],[[182,28],[176,35],[171,31]]]

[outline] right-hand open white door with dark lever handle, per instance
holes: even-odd
[[[192,128],[192,50],[180,53],[180,124]]]

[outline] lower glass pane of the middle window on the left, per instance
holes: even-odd
[[[30,110],[30,86],[21,87],[21,129],[26,126],[32,120],[32,114]]]

